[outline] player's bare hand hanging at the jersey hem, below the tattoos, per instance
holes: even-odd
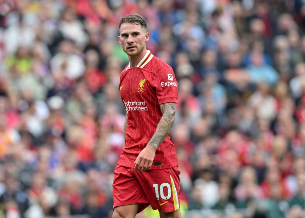
[[[150,145],[146,145],[146,147],[140,152],[138,157],[135,159],[135,170],[145,171],[148,170],[152,166],[153,159],[155,158],[156,148]]]

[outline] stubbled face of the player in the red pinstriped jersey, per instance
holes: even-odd
[[[140,25],[123,23],[120,28],[119,42],[128,56],[139,55],[149,40],[149,33]]]

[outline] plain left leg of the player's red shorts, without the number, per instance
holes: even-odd
[[[113,209],[124,205],[139,204],[137,211],[139,213],[149,205],[149,202],[141,184],[133,173],[131,173],[132,170],[135,169],[120,165],[114,170],[112,185]]]

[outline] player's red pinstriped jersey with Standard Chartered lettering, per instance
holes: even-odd
[[[173,69],[147,50],[136,67],[130,68],[128,64],[121,72],[120,95],[127,113],[127,129],[118,165],[133,168],[163,115],[159,105],[177,103],[178,83]],[[178,160],[169,134],[157,148],[151,169],[175,166]]]

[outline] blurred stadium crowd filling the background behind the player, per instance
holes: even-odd
[[[184,216],[305,217],[302,0],[0,1],[0,217],[111,217],[131,13],[178,80]]]

